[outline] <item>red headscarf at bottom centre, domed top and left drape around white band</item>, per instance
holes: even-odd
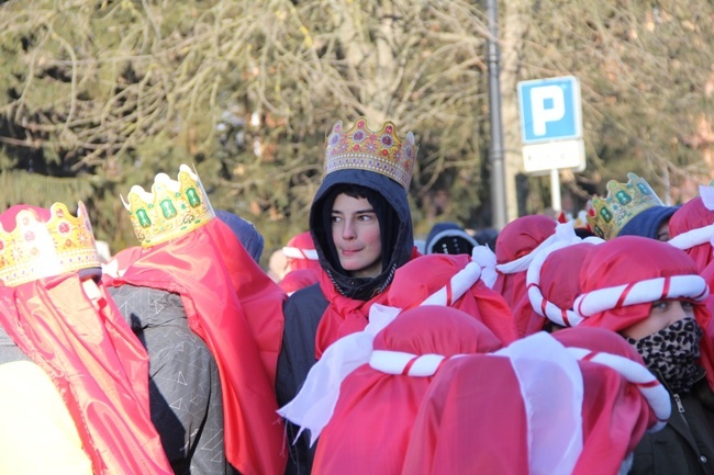
[[[501,347],[471,316],[442,306],[403,312],[377,335],[373,344],[375,350],[445,357]],[[334,415],[320,436],[312,473],[399,475],[414,417],[431,381],[384,374],[369,364],[358,367],[341,386]]]

